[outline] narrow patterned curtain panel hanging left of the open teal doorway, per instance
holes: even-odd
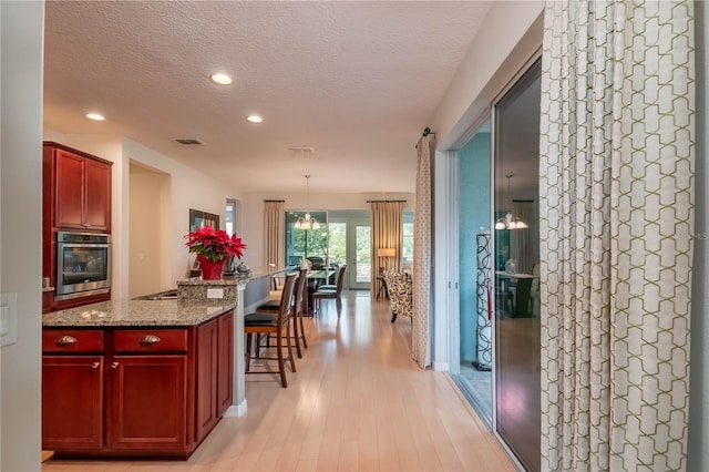
[[[433,135],[417,144],[417,202],[413,217],[413,330],[411,351],[421,369],[431,365],[431,153]]]

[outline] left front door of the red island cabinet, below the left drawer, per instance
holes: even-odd
[[[42,357],[42,449],[103,445],[103,356]]]

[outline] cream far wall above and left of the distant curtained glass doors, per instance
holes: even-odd
[[[412,150],[413,154],[413,150]],[[305,187],[305,178],[304,178]],[[312,185],[311,185],[312,187]],[[250,267],[263,267],[264,261],[264,201],[282,199],[286,209],[370,209],[373,199],[405,199],[404,209],[412,209],[414,194],[320,194],[310,192],[279,193],[250,192],[245,193],[243,203],[242,233],[247,247],[244,252],[244,264]]]

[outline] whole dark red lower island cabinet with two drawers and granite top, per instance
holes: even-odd
[[[45,328],[42,449],[187,458],[230,402],[233,324],[228,311],[181,328]]]

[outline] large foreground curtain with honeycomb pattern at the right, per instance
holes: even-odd
[[[542,469],[684,470],[692,1],[547,1]]]

